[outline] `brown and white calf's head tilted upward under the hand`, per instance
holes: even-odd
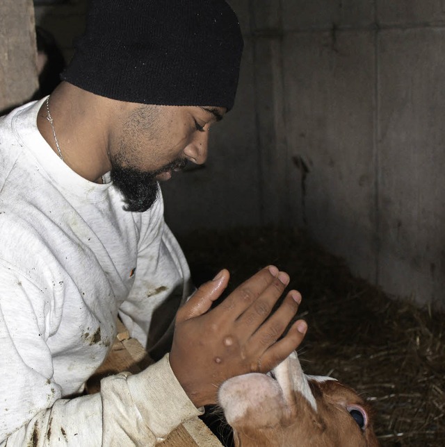
[[[369,406],[327,377],[306,376],[296,353],[270,375],[231,378],[219,391],[237,447],[378,447]]]

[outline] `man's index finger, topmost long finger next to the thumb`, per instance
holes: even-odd
[[[225,319],[234,321],[252,303],[257,301],[257,298],[273,283],[275,283],[276,290],[272,292],[272,289],[270,289],[269,293],[274,296],[277,295],[278,298],[284,290],[284,286],[281,287],[280,285],[280,280],[276,279],[278,274],[279,271],[275,266],[268,266],[261,269],[254,276],[243,282],[243,284],[236,287],[234,292],[227,296],[223,303],[216,308],[216,313],[221,314]]]

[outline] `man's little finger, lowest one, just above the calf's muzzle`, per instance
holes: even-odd
[[[289,329],[286,336],[280,341],[270,346],[268,350],[259,357],[258,370],[261,373],[267,373],[275,368],[284,359],[296,351],[307,332],[307,323],[304,320],[298,320]]]

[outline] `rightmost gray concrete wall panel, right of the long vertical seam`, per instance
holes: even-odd
[[[378,47],[378,280],[394,294],[443,300],[445,28],[385,30]]]

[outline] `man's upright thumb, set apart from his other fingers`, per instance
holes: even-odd
[[[199,317],[210,309],[213,301],[216,301],[225,291],[229,283],[230,273],[227,269],[221,270],[213,280],[204,282],[203,285],[191,296],[191,298],[178,310],[177,321]]]

